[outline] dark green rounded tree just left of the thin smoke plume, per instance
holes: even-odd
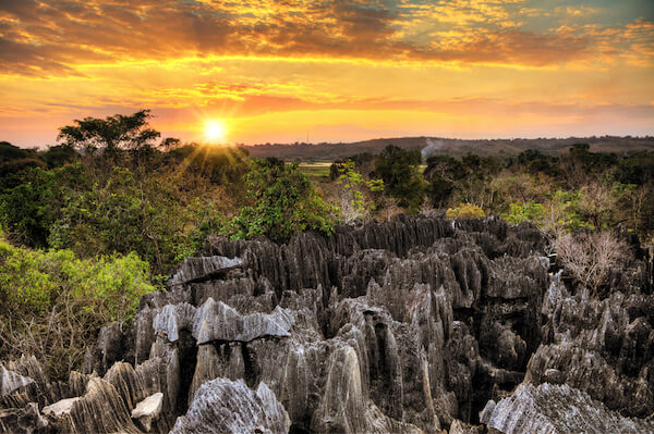
[[[399,199],[401,207],[416,210],[423,200],[423,185],[419,173],[420,151],[410,151],[388,145],[375,159],[374,177],[384,179],[389,196]]]

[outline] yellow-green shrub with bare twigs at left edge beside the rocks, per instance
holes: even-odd
[[[131,321],[141,297],[156,289],[148,268],[135,253],[81,260],[0,239],[0,359],[34,355],[64,377],[101,326]]]

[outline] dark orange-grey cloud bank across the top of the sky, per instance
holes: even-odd
[[[607,38],[524,29],[523,3],[4,0],[0,72],[62,75],[97,62],[237,54],[544,66],[591,58]],[[561,11],[572,17],[593,12]],[[647,28],[625,32],[649,32],[644,37],[652,39]]]

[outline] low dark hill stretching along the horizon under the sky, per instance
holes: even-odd
[[[516,156],[525,149],[537,149],[543,153],[565,152],[574,144],[589,144],[593,152],[616,152],[620,154],[640,151],[654,151],[654,137],[568,137],[535,139],[493,139],[463,140],[438,137],[378,138],[350,144],[266,144],[244,146],[252,157],[277,157],[287,161],[335,161],[355,153],[379,153],[388,145],[403,149],[420,149],[432,145],[429,153],[446,153],[460,157],[469,152],[480,156]]]

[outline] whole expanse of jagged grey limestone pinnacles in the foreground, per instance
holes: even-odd
[[[5,363],[0,429],[513,426],[489,401],[557,432],[577,425],[556,406],[596,411],[613,421],[605,426],[649,426],[651,265],[615,270],[610,296],[596,299],[552,272],[547,243],[530,224],[405,215],[282,245],[210,238],[167,290],[143,297],[131,328],[102,330],[68,382],[51,382],[34,358]]]

